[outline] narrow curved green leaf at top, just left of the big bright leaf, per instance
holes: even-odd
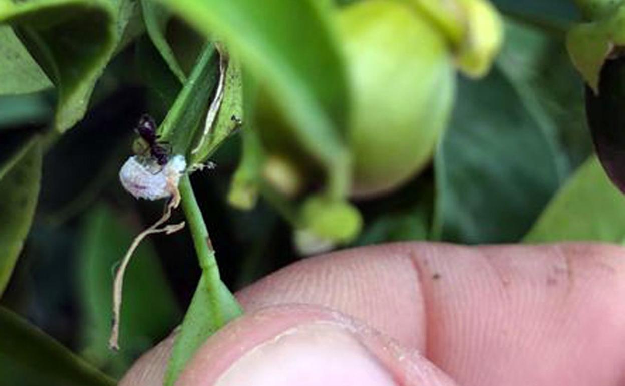
[[[174,51],[165,37],[167,24],[172,16],[171,12],[163,4],[154,0],[141,0],[141,6],[143,7],[143,19],[146,23],[146,29],[154,46],[156,46],[163,59],[165,59],[171,72],[176,75],[181,83],[184,83],[187,76],[180,64],[178,64],[178,59],[176,59]]]

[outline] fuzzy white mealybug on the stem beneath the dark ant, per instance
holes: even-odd
[[[186,167],[187,163],[181,155],[173,156],[165,166],[146,163],[141,157],[132,156],[119,170],[119,181],[135,198],[159,200],[178,190],[180,177]]]

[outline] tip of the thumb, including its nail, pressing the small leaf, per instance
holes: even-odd
[[[237,320],[199,350],[179,380],[200,385],[453,385],[414,351],[331,310],[283,306]]]

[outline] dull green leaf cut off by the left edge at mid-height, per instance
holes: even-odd
[[[32,136],[0,165],[0,295],[32,223],[41,179],[41,153],[39,137]]]

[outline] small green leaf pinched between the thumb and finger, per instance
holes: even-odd
[[[176,336],[176,343],[171,352],[171,359],[167,372],[165,373],[165,386],[173,386],[183,371],[186,363],[191,360],[193,354],[202,343],[213,333],[217,332],[222,325],[214,323],[214,320],[232,320],[241,315],[241,308],[238,306],[236,298],[228,290],[226,285],[219,282],[217,294],[212,294],[214,290],[209,284],[206,273],[197,283],[196,292],[193,295],[189,309],[184,315],[184,322]],[[215,315],[216,303],[219,304],[221,315]]]

